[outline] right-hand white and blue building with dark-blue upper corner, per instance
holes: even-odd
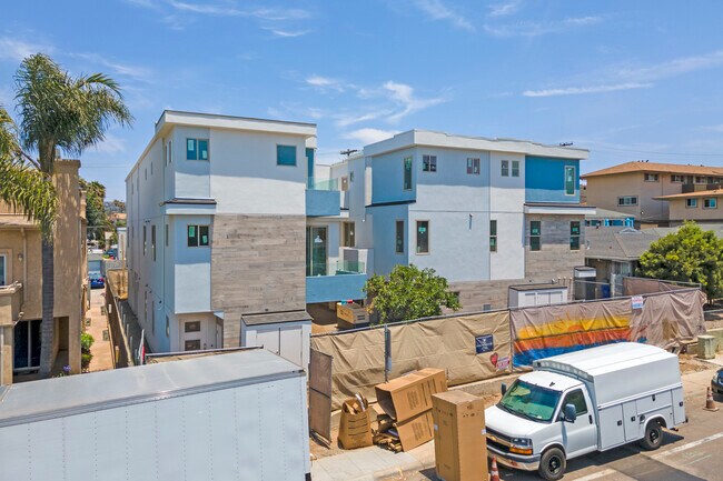
[[[344,262],[388,274],[433,268],[463,309],[507,305],[508,287],[571,279],[584,265],[580,161],[587,151],[412,130],[331,166]],[[336,234],[335,234],[336,236]]]

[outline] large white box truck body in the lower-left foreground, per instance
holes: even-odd
[[[263,349],[0,389],[0,479],[310,479],[306,374]]]

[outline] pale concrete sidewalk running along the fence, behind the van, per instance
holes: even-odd
[[[687,410],[700,409],[705,404],[706,388],[714,370],[717,365],[723,365],[723,353],[707,362],[711,369],[687,372],[682,377]],[[435,479],[434,467],[434,441],[400,453],[373,445],[313,461],[311,478],[314,481]]]

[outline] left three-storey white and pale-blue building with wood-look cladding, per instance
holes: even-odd
[[[128,298],[153,352],[263,344],[306,365],[315,148],[309,123],[161,114],[126,178]]]

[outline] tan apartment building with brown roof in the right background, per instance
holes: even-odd
[[[713,214],[680,209],[674,199],[686,197],[667,197],[695,192],[693,198],[699,198],[699,192],[717,189],[723,183],[723,168],[633,161],[586,173],[582,179],[587,183],[586,197],[592,206],[631,214],[637,224],[668,226],[671,221]],[[715,196],[703,194],[703,199],[706,197]]]

